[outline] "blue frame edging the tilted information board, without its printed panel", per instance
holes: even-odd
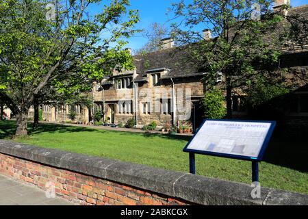
[[[275,121],[256,121],[256,120],[222,120],[222,119],[206,119],[203,121],[203,125],[207,121],[224,121],[224,122],[239,122],[239,123],[270,123],[270,129],[268,130],[268,133],[266,135],[266,138],[264,140],[264,143],[261,146],[261,150],[259,152],[258,157],[247,157],[247,156],[242,156],[242,155],[231,155],[231,154],[226,154],[226,153],[216,153],[216,152],[210,152],[210,151],[198,151],[198,150],[193,150],[193,149],[188,149],[188,146],[190,145],[190,142],[196,137],[198,134],[198,131],[200,131],[201,128],[198,129],[198,131],[194,134],[194,136],[190,139],[188,144],[186,144],[185,148],[183,149],[184,152],[188,153],[196,153],[196,154],[201,154],[201,155],[210,155],[210,156],[216,156],[216,157],[227,157],[227,158],[232,158],[232,159],[242,159],[242,160],[248,160],[251,162],[261,162],[264,153],[268,147],[268,143],[270,142],[270,138],[272,137],[272,133],[274,131],[274,127],[276,127],[276,122]]]

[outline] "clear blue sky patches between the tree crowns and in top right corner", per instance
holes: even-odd
[[[151,23],[166,23],[172,15],[166,15],[171,3],[177,2],[177,0],[131,0],[131,9],[138,9],[140,12],[139,29],[148,29]],[[293,7],[298,5],[308,4],[308,0],[291,0]],[[129,40],[127,47],[136,50],[140,49],[146,44],[147,39],[142,34],[136,34]]]

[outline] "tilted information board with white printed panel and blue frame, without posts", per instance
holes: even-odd
[[[261,161],[276,122],[205,120],[183,151]]]

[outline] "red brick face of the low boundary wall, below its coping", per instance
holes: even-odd
[[[186,205],[188,203],[122,183],[53,168],[1,153],[0,173],[42,190],[46,190],[47,183],[53,183],[57,196],[81,205]]]

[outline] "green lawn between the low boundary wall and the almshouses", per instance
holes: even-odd
[[[14,122],[0,121],[0,138],[9,139],[12,133]],[[61,125],[40,125],[28,138],[15,139],[25,144],[183,172],[189,171],[188,153],[182,152],[188,140],[187,137]],[[308,194],[307,145],[293,143],[293,149],[298,147],[296,155],[288,153],[288,147],[290,144],[279,141],[271,143],[270,155],[260,165],[260,183],[265,187]],[[207,177],[251,183],[251,162],[197,155],[196,172]]]

